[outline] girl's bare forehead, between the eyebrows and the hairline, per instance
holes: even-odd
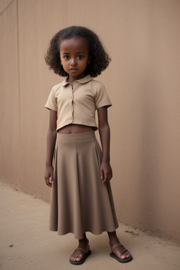
[[[82,37],[71,37],[60,41],[60,51],[88,51],[88,46]]]

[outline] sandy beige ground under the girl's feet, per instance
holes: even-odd
[[[1,270],[126,269],[179,270],[180,248],[161,238],[120,224],[117,235],[134,259],[120,264],[109,256],[106,233],[87,233],[92,255],[81,266],[69,263],[77,240],[49,231],[49,204],[0,183]]]

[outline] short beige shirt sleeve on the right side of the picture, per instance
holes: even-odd
[[[96,108],[101,108],[104,106],[110,107],[112,105],[105,86],[100,83],[96,89]]]

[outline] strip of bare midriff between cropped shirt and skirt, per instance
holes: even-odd
[[[78,134],[94,131],[94,127],[83,126],[82,124],[68,124],[68,126],[62,127],[58,130],[60,134]]]

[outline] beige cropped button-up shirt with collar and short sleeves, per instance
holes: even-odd
[[[57,112],[57,131],[68,124],[94,127],[96,109],[111,106],[105,86],[90,75],[74,82],[65,79],[53,86],[45,107]]]

